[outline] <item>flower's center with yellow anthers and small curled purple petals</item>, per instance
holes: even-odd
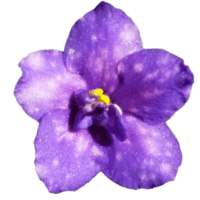
[[[75,94],[78,111],[75,115],[74,130],[91,126],[104,127],[120,141],[126,139],[126,123],[121,108],[113,104],[101,88],[91,91],[79,90]]]

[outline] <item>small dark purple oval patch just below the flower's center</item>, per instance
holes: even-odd
[[[111,146],[113,139],[103,126],[92,125],[88,129],[89,133],[93,137],[94,141],[101,146]]]

